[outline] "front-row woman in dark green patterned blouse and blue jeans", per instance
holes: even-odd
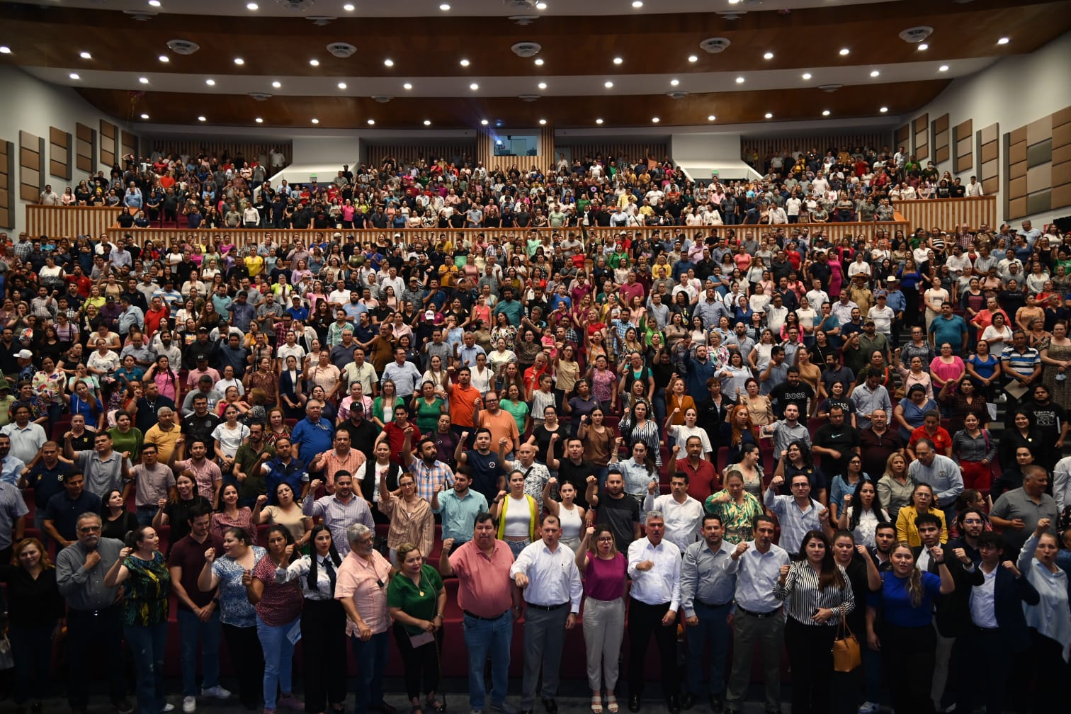
[[[123,586],[123,636],[137,667],[138,714],[160,714],[164,700],[164,648],[171,573],[150,526],[126,534],[126,547],[104,576],[107,588]]]

